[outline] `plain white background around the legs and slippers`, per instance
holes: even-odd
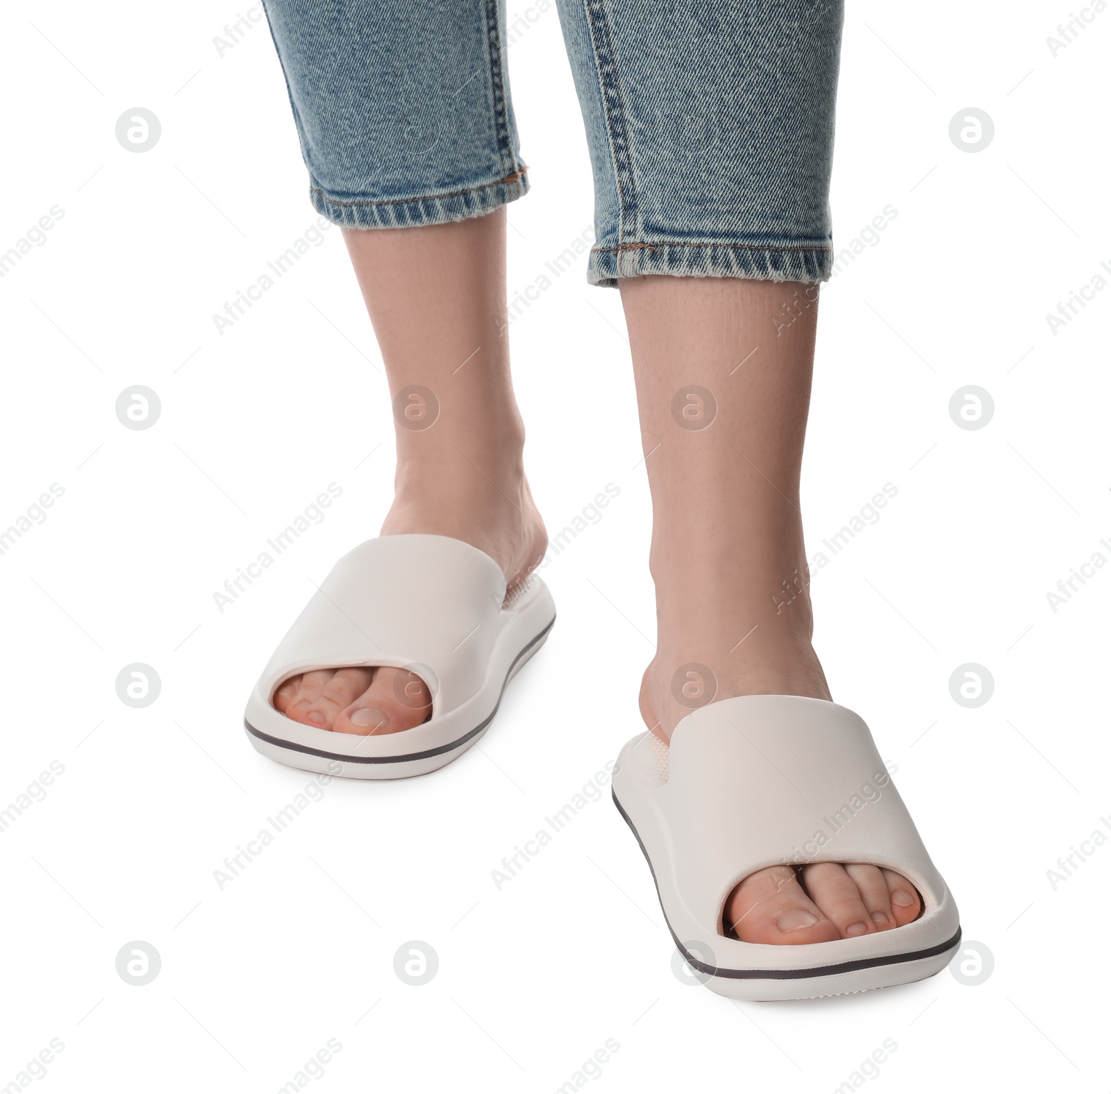
[[[834,699],[873,727],[962,912],[994,955],[802,1003],[682,983],[649,871],[607,797],[500,891],[491,870],[642,727],[652,654],[649,500],[619,295],[585,260],[513,323],[528,468],[554,532],[607,483],[604,519],[544,570],[560,618],[490,733],[411,781],[336,781],[221,891],[213,871],[309,781],[258,755],[242,707],[332,562],[377,533],[392,428],[337,229],[222,335],[212,315],[316,220],[264,24],[219,56],[234,6],[66,2],[3,20],[0,250],[64,215],[0,280],[0,1086],[51,1038],[36,1088],[273,1092],[329,1038],[312,1088],[552,1092],[614,1038],[593,1088],[822,1092],[893,1038],[869,1088],[1105,1090],[1111,849],[1047,870],[1111,815],[1108,305],[1045,314],[1111,262],[1111,13],[1055,57],[1061,3],[855,3],[844,36],[833,213],[845,245],[898,217],[825,288],[803,476],[808,549],[884,483],[898,495],[814,578]],[[511,13],[523,11],[523,6]],[[1085,9],[1089,10],[1089,9]],[[257,12],[256,12],[257,13]],[[590,172],[554,10],[511,49],[533,192],[510,205],[520,289],[590,225]],[[987,111],[959,151],[950,119]],[[160,119],[151,151],[117,119]],[[116,399],[161,399],[142,432]],[[951,395],[994,400],[959,429]],[[373,454],[370,454],[373,453]],[[334,482],[342,495],[224,612],[213,592]],[[143,710],[119,671],[154,666]],[[994,694],[964,709],[953,670]],[[1075,862],[1077,860],[1074,860]],[[137,987],[132,940],[161,955]],[[413,987],[396,950],[430,943]],[[368,1013],[369,1012],[369,1013]]]

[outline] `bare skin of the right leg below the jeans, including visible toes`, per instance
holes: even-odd
[[[620,284],[652,491],[658,638],[640,693],[645,723],[670,737],[691,713],[678,697],[684,683],[700,691],[695,702],[830,699],[810,644],[799,509],[817,285]],[[919,912],[913,886],[875,866],[815,863],[801,881],[789,866],[752,874],[724,922],[745,942],[798,944],[901,926]]]

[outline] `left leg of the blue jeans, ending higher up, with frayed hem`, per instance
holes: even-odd
[[[266,0],[313,205],[349,228],[488,213],[528,190],[504,0]]]

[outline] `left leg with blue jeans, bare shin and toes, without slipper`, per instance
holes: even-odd
[[[394,401],[397,492],[382,533],[463,540],[494,559],[512,589],[542,558],[547,536],[522,469],[502,333],[501,207],[528,189],[503,4],[266,7],[311,200],[344,225]],[[399,672],[304,673],[279,689],[274,705],[318,729],[410,729],[426,720],[429,694],[417,678],[399,685]]]

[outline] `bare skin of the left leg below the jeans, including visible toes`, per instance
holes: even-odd
[[[344,239],[393,399],[396,493],[382,534],[470,543],[499,563],[512,592],[543,558],[548,536],[524,479],[503,334],[504,211],[429,228],[347,229]],[[422,391],[410,395],[413,388]],[[274,705],[343,733],[408,730],[424,721],[431,700],[416,678],[399,685],[398,673],[309,672],[287,681]],[[403,686],[408,702],[398,697]]]

